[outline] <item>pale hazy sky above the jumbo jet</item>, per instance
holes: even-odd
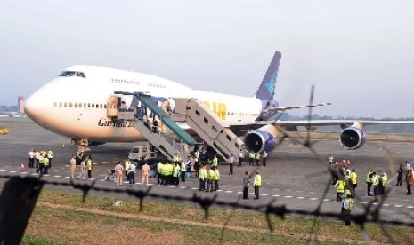
[[[0,104],[74,64],[253,96],[280,51],[280,106],[308,103],[314,84],[314,101],[333,103],[316,113],[409,117],[413,12],[414,1],[2,0]]]

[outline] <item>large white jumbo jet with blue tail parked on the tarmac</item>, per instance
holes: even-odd
[[[107,105],[114,97],[126,102],[129,107],[136,107],[139,102],[133,96],[115,94],[115,91],[138,91],[154,99],[161,99],[158,101],[191,97],[203,101],[234,133],[244,135],[245,146],[254,152],[272,151],[278,144],[280,131],[285,127],[340,125],[344,130],[340,133],[339,143],[346,150],[354,150],[365,143],[365,125],[414,123],[351,120],[268,121],[278,111],[330,104],[279,107],[273,94],[280,59],[281,53],[276,51],[255,97],[199,91],[156,75],[98,66],[71,66],[26,99],[25,113],[46,130],[71,138],[75,145],[136,142],[146,141],[146,138],[131,122],[108,117]],[[190,130],[185,123],[179,125]]]

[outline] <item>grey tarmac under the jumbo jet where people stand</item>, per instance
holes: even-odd
[[[65,138],[39,127],[28,119],[17,119],[12,123],[0,121],[0,126],[7,126],[10,133],[0,135],[0,176],[21,175],[38,176],[36,169],[28,168],[28,152],[35,148],[53,151],[53,165],[48,175],[42,178],[60,183],[69,183],[69,160],[76,151],[76,146],[70,145],[70,138]],[[16,123],[17,122],[17,123]],[[6,125],[4,125],[6,124]],[[362,213],[369,205],[370,209],[378,207],[377,202],[372,203],[373,197],[367,196],[365,178],[369,170],[385,170],[388,174],[389,184],[386,189],[389,194],[380,209],[380,217],[384,220],[412,222],[414,211],[413,196],[406,195],[406,184],[394,186],[395,170],[399,164],[404,167],[404,162],[413,162],[413,143],[404,142],[367,142],[365,146],[355,151],[345,151],[337,140],[313,140],[311,148],[304,147],[299,142],[286,139],[277,146],[268,157],[267,167],[248,166],[245,159],[243,166],[234,166],[234,174],[229,174],[229,166],[219,164],[221,172],[220,190],[215,193],[198,192],[199,181],[192,177],[186,182],[180,182],[179,186],[158,186],[155,178],[150,178],[150,192],[166,196],[181,196],[191,198],[194,194],[200,197],[214,197],[221,202],[239,202],[243,205],[260,206],[272,202],[272,205],[285,205],[289,210],[313,211],[320,207],[322,212],[340,212],[341,202],[336,202],[337,191],[332,186],[330,173],[327,170],[328,156],[333,154],[336,160],[350,159],[351,169],[358,174],[358,187],[356,189],[355,205],[353,213]],[[95,186],[113,187],[114,189],[142,189],[146,186],[130,187],[127,183],[116,186],[113,181],[105,181],[109,169],[113,169],[120,160],[125,160],[127,152],[137,144],[132,143],[108,143],[102,146],[91,146],[93,158],[93,178],[73,180],[75,183],[95,182]],[[25,164],[26,171],[20,172],[20,164]],[[77,167],[77,174],[79,173]],[[241,200],[242,176],[245,171],[253,173],[259,170],[262,175],[260,199],[254,200],[253,187],[249,189],[249,200]],[[405,175],[404,175],[405,178]],[[141,182],[141,172],[137,170],[135,180]],[[4,183],[6,178],[0,178]],[[253,184],[253,176],[251,178]],[[46,189],[60,190],[64,192],[78,193],[71,186],[45,185]],[[414,191],[414,189],[413,189]],[[371,190],[371,193],[373,191]],[[127,194],[100,193],[92,194],[110,195],[114,199],[133,198]],[[154,200],[165,202],[164,199]],[[86,201],[87,202],[87,201]]]

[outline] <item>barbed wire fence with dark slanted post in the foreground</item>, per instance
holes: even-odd
[[[287,131],[282,131],[284,136],[281,141],[286,138],[289,138]],[[314,149],[312,144],[309,143],[309,138],[304,138],[304,140],[290,138],[295,144],[300,144],[313,153],[313,155],[318,158],[323,164],[327,165],[327,161],[321,158]],[[281,143],[281,142],[280,142]],[[391,165],[390,169],[394,169],[394,154],[391,151],[387,150],[389,164]],[[329,164],[329,163],[328,163]],[[259,168],[259,167],[256,167]],[[255,170],[251,172],[255,172]],[[337,175],[337,178],[341,177],[336,170],[333,170],[333,174]],[[174,202],[192,202],[197,204],[200,209],[204,211],[204,218],[208,219],[209,212],[212,206],[220,207],[223,209],[242,209],[247,211],[255,211],[262,213],[267,222],[267,227],[269,232],[274,232],[274,226],[272,225],[273,216],[280,217],[284,219],[286,216],[297,215],[301,217],[313,217],[313,226],[311,229],[311,235],[317,235],[317,225],[320,218],[329,218],[329,219],[340,219],[342,214],[340,212],[327,212],[321,211],[323,200],[326,195],[329,194],[329,186],[331,186],[331,179],[329,179],[326,187],[323,190],[322,197],[318,203],[316,209],[314,210],[305,210],[305,209],[289,209],[286,205],[276,205],[276,198],[273,198],[270,202],[263,205],[248,205],[240,202],[240,196],[235,202],[224,202],[217,199],[217,194],[214,196],[202,196],[201,194],[194,193],[191,197],[183,196],[171,196],[168,194],[157,194],[153,191],[153,188],[150,186],[146,190],[136,190],[136,189],[114,189],[106,186],[96,186],[96,180],[91,183],[77,183],[72,180],[69,182],[60,182],[52,181],[49,179],[33,176],[16,176],[12,174],[1,174],[0,178],[6,178],[7,181],[4,184],[4,189],[2,195],[0,196],[0,239],[2,244],[18,244],[24,234],[24,230],[28,225],[29,217],[33,209],[36,206],[38,195],[40,194],[43,186],[66,186],[82,192],[83,202],[86,202],[86,197],[90,194],[91,191],[104,192],[109,194],[128,194],[138,199],[140,210],[142,210],[143,202],[148,198],[155,200],[164,200],[164,201],[174,201]],[[252,178],[252,176],[250,176]],[[349,185],[345,181],[346,185]],[[351,188],[351,186],[348,186]],[[389,191],[389,190],[388,190]],[[384,206],[388,192],[386,192],[384,198],[380,199],[376,205],[373,205],[374,202],[369,202],[368,205],[363,206],[364,211],[360,214],[350,214],[351,220],[359,227],[361,232],[361,237],[366,243],[371,243],[368,233],[365,231],[365,225],[372,223],[380,225],[382,232],[387,238],[389,243],[396,243],[393,236],[390,235],[387,230],[387,225],[402,225],[405,227],[414,227],[414,222],[409,221],[399,221],[399,220],[383,220],[380,216],[380,209]],[[355,196],[356,203],[361,203],[360,197]],[[23,212],[21,210],[24,210]],[[18,214],[18,215],[16,215]],[[407,213],[410,215],[410,213]],[[229,215],[227,221],[223,225],[222,230],[222,239],[223,233],[226,229],[226,226],[229,224],[231,219],[231,214]],[[414,220],[414,219],[413,219]],[[315,240],[311,237],[310,241]],[[316,238],[317,241],[317,238]]]

